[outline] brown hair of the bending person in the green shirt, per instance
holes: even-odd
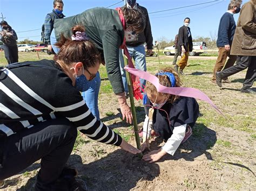
[[[142,10],[129,9],[126,6],[123,6],[121,9],[124,14],[126,28],[132,26],[134,32],[141,33],[146,25],[146,19]]]

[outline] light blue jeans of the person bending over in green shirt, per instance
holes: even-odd
[[[54,44],[57,43],[54,29],[51,32],[51,46],[53,51],[58,54],[59,48],[56,47]],[[100,87],[100,75],[99,73],[96,74],[95,79],[90,81],[90,88],[84,92],[82,92],[82,96],[86,105],[91,110],[92,114],[99,120],[99,108],[98,108],[98,97],[99,97],[99,87]]]

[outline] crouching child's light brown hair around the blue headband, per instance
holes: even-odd
[[[170,67],[167,67],[167,68],[164,68],[162,71],[163,72],[169,72],[169,73],[172,73],[174,75],[174,77],[176,79],[176,84],[174,84],[173,87],[180,87],[181,86],[180,78],[179,78],[178,74],[175,72],[174,69],[172,69]],[[170,81],[170,79],[167,75],[157,75],[156,74],[156,76],[158,77],[159,83],[161,85],[166,86],[166,87],[172,87],[171,81]],[[145,92],[148,93],[148,94],[158,94],[160,96],[166,96],[166,97],[168,97],[168,100],[169,100],[170,103],[175,102],[179,98],[179,96],[177,96],[177,95],[157,92],[157,88],[152,83],[150,83],[149,81],[146,82]]]

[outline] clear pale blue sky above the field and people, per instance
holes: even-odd
[[[94,7],[107,7],[121,0],[63,0],[64,15],[66,17],[77,15],[86,9]],[[142,6],[147,8],[150,13],[150,22],[154,40],[165,37],[167,40],[174,39],[174,36],[183,25],[185,17],[191,18],[190,28],[192,37],[211,37],[218,32],[219,19],[227,11],[229,0],[137,0]],[[41,39],[41,26],[47,13],[52,10],[53,0],[0,0],[0,12],[3,13],[5,20],[17,32],[18,40],[29,37],[31,40]],[[151,13],[155,11],[180,8],[182,6],[207,3],[203,5],[190,6],[188,8]],[[248,2],[245,0],[243,3]],[[120,2],[110,7],[114,9],[122,6]],[[237,22],[239,14],[234,15]],[[35,30],[31,32],[21,32]],[[38,37],[33,37],[38,36]]]

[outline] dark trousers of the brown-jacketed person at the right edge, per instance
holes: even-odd
[[[256,56],[237,56],[237,64],[219,73],[221,79],[247,69],[242,89],[251,88],[256,77]]]

